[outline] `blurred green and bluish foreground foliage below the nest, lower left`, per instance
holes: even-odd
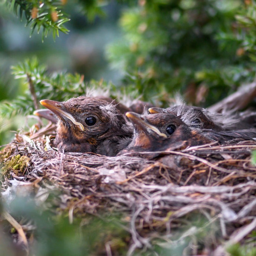
[[[67,214],[58,214],[58,209],[53,206],[54,201],[58,201],[57,191],[51,192],[43,205],[40,205],[40,197],[29,197],[23,192],[24,195],[19,196],[12,194],[11,203],[4,204],[4,208],[22,223],[27,239],[30,240],[29,255],[104,255],[106,244],[118,255],[126,255],[125,240],[129,239],[129,233],[122,228],[120,216],[99,218],[88,214],[83,220],[77,217],[70,223]],[[47,206],[50,208],[47,209]],[[1,232],[3,230],[6,236]],[[26,255],[24,246],[13,246],[10,241],[11,233],[18,237],[17,230],[1,219],[0,255]],[[6,252],[8,253],[5,254]]]

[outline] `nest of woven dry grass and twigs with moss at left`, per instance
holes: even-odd
[[[52,148],[50,134],[52,126],[20,133],[2,150],[3,198],[14,187],[42,201],[47,196],[39,191],[58,190],[58,211],[68,213],[70,222],[121,216],[120,226],[130,234],[127,255],[155,248],[164,255],[184,241],[183,255],[219,256],[238,242],[255,245],[255,141],[107,157],[63,154]],[[118,255],[111,241],[105,248],[106,255]]]

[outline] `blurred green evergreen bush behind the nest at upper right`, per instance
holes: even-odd
[[[255,8],[239,0],[141,0],[124,10],[123,37],[107,56],[146,99],[181,90],[207,106],[254,79]]]

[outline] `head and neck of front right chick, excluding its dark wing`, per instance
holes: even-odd
[[[126,115],[134,126],[134,137],[129,146],[120,154],[133,151],[178,150],[213,141],[200,134],[199,131],[189,128],[173,114],[139,115],[127,112]]]

